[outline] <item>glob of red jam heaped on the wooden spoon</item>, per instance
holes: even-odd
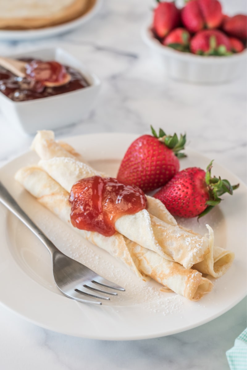
[[[59,83],[66,77],[65,67],[56,61],[32,60],[26,65],[26,75],[31,80]]]

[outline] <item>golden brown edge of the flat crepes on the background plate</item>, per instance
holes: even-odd
[[[60,10],[53,17],[41,18],[1,18],[0,29],[2,30],[27,30],[56,26],[88,13],[96,4],[96,0],[75,0],[66,8]]]

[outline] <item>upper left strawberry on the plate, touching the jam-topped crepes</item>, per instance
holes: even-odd
[[[144,192],[166,184],[179,170],[178,158],[185,157],[186,135],[168,136],[160,129],[159,135],[137,138],[127,149],[120,164],[117,179],[126,185],[139,186]]]

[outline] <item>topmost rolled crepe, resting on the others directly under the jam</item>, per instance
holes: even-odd
[[[39,166],[68,192],[80,179],[99,175],[99,172],[89,165],[69,157],[41,160]],[[114,227],[126,238],[168,260],[180,263],[185,268],[200,262],[209,252],[206,237],[199,238],[178,225],[170,225],[150,215],[146,209],[119,217]]]

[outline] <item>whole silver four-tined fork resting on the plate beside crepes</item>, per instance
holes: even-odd
[[[64,295],[79,302],[101,305],[102,302],[97,299],[110,300],[110,297],[104,294],[117,295],[111,289],[125,290],[121,286],[104,279],[104,277],[98,275],[82,263],[60,252],[23,209],[21,209],[1,182],[0,202],[13,212],[49,250],[53,264],[54,282]],[[109,288],[110,290],[103,290],[102,287]],[[103,295],[100,293],[103,293]]]

